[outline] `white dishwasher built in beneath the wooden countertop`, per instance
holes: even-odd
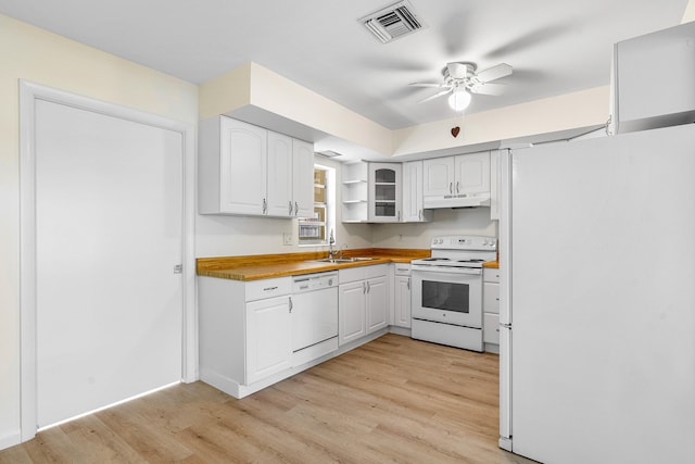
[[[337,346],[338,273],[305,274],[292,280],[292,350],[296,353],[331,338]]]

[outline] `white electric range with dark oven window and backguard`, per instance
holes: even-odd
[[[493,237],[435,237],[431,258],[410,262],[413,338],[483,351],[482,263],[496,250]]]

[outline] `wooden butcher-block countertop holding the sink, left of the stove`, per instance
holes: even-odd
[[[232,280],[257,280],[300,274],[320,273],[348,267],[384,263],[409,263],[418,258],[430,256],[430,250],[363,248],[345,250],[345,258],[375,258],[370,261],[353,263],[313,263],[328,256],[327,252],[252,254],[245,256],[199,258],[197,272],[200,276],[227,278]]]

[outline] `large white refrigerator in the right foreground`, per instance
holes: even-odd
[[[500,446],[695,463],[695,125],[501,162]]]

